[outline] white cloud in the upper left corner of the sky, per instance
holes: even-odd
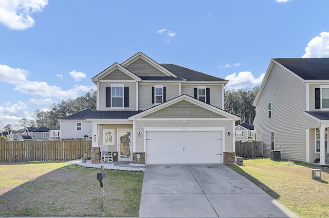
[[[48,0],[0,0],[0,23],[14,30],[30,28],[35,23],[31,15],[47,4]]]

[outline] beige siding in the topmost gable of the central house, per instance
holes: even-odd
[[[145,62],[142,58],[138,58],[125,68],[132,71],[137,76],[167,76],[165,73],[162,73],[160,70]]]

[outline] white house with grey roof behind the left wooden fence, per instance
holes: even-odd
[[[87,115],[93,111],[88,108],[59,120],[61,140],[84,138],[85,135],[93,132],[92,122],[86,120]]]

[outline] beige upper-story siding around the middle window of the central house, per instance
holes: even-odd
[[[151,84],[141,84],[138,86],[138,107],[139,110],[147,110],[155,105],[152,104],[152,87],[155,85],[163,85],[166,87],[166,101],[168,102],[179,94],[178,84],[161,84],[161,83],[151,83]]]

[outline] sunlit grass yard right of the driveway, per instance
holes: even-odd
[[[243,166],[227,166],[298,216],[329,217],[329,168],[269,158],[244,160]],[[312,179],[312,169],[321,169],[321,180]]]

